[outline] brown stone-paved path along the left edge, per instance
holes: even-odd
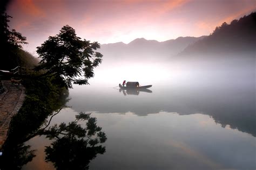
[[[18,113],[25,98],[22,85],[11,85],[10,80],[2,80],[5,91],[0,94],[0,151],[8,137],[11,118]]]

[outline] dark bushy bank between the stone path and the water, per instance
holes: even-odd
[[[8,139],[2,147],[0,169],[21,169],[35,157],[25,141],[35,137],[47,118],[69,100],[69,91],[52,83],[54,78],[23,79],[26,88],[24,103],[10,124]]]

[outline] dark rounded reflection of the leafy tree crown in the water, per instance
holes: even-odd
[[[86,127],[78,124],[87,120]],[[96,118],[90,114],[79,113],[76,120],[68,125],[55,125],[44,130],[46,138],[56,139],[51,146],[46,146],[46,161],[53,162],[57,169],[87,169],[97,154],[103,154],[105,147],[98,145],[106,141],[102,128],[96,125]]]

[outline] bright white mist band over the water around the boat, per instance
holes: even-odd
[[[99,66],[96,76],[90,80],[91,85],[75,86],[71,90],[76,96],[70,101],[73,109],[138,115],[160,111],[241,117],[246,114],[250,115],[252,123],[255,121],[253,58],[216,59],[208,63],[197,59],[183,63],[132,63],[127,59],[123,63],[106,62]],[[153,85],[149,89],[152,92],[130,92],[133,95],[128,92],[125,96],[117,87],[123,80]]]

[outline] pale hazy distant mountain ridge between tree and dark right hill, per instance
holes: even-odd
[[[145,38],[134,39],[129,44],[122,42],[113,44],[102,44],[98,50],[104,56],[104,61],[122,60],[165,60],[177,55],[188,45],[197,42],[202,37],[179,37],[177,39],[158,42],[157,40],[146,40]]]

